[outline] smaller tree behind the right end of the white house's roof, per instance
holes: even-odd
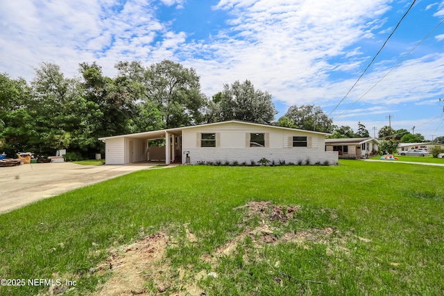
[[[316,130],[318,132],[332,132],[333,121],[323,112],[321,107],[314,105],[293,105],[284,114],[290,121],[293,120],[296,128],[301,130]],[[278,121],[279,123],[279,121]]]

